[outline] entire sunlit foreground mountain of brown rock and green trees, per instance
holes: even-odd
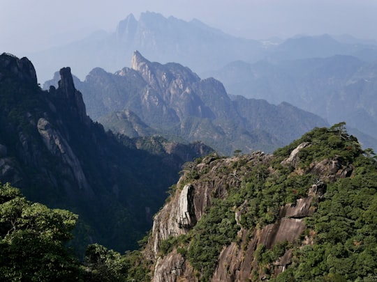
[[[273,154],[184,165],[140,251],[88,267],[137,281],[374,281],[377,156],[345,123]],[[117,268],[112,267],[117,265]]]

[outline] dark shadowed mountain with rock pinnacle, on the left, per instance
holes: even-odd
[[[43,91],[27,58],[0,56],[0,181],[79,215],[73,244],[134,249],[184,162],[212,149],[105,132],[87,116],[70,68]],[[81,248],[81,249],[80,249]]]

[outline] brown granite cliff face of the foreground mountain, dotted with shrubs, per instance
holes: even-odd
[[[327,185],[350,177],[354,170],[353,165],[341,157],[313,160],[308,166],[303,166],[304,155],[300,151],[311,146],[311,142],[304,141],[292,148],[290,155],[283,159],[263,152],[253,152],[230,158],[209,155],[200,162],[186,164],[175,194],[154,217],[149,244],[144,250],[145,256],[154,262],[152,280],[261,281],[286,271],[293,263],[294,246],[302,248],[314,244],[315,232],[305,222],[316,212]],[[279,166],[276,166],[277,160],[281,162]],[[242,191],[250,188],[258,190],[258,182],[263,182],[265,190],[260,192],[264,196],[260,199],[269,198],[268,187],[272,187],[274,182],[282,181],[282,171],[289,174],[286,180],[290,185],[285,189],[293,192],[295,197],[285,205],[267,207],[265,212],[270,216],[274,214],[272,220],[257,219],[256,225],[250,226],[247,223],[249,217],[253,217],[253,209],[260,207],[258,201],[263,200],[257,200],[258,196],[246,196],[253,194],[253,191],[246,194],[242,194]],[[311,180],[304,182],[308,175]],[[248,184],[251,179],[254,181],[252,185]],[[297,186],[300,188],[295,188],[293,179],[300,179],[301,184]],[[285,194],[287,191],[278,193]],[[245,196],[237,198],[235,195]],[[200,221],[209,220],[207,218],[212,214],[211,210],[220,203],[226,205],[229,198],[233,200],[226,213],[233,215],[227,217],[224,213],[220,214],[219,221],[206,221],[217,224],[216,228],[212,228],[209,223],[203,229],[198,228]],[[273,202],[276,198],[279,196],[272,196],[267,201]],[[220,236],[222,228],[229,228],[224,227],[223,222],[228,221],[225,226],[230,226],[232,217],[235,219],[232,228],[237,231],[236,235],[228,244],[221,245],[213,260],[213,268],[206,272],[204,264],[195,265],[196,260],[191,254],[191,249],[197,246],[196,238],[205,238],[198,233],[214,232],[214,241],[205,243],[202,249],[202,252],[206,252],[206,249],[211,252],[211,246],[216,244],[216,240],[220,240],[216,239],[215,234]],[[260,214],[260,217],[263,215]],[[167,247],[167,244],[171,245]],[[280,246],[284,246],[283,251],[266,264],[263,253],[274,252]],[[198,253],[197,256],[202,255]]]

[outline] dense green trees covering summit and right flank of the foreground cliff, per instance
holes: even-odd
[[[276,281],[376,281],[376,155],[361,150],[344,123],[313,130],[297,143],[303,141],[311,141],[312,146],[300,151],[299,166],[341,159],[352,167],[352,174],[334,182],[323,179],[326,192],[316,212],[306,219],[305,233],[311,234],[313,244],[296,246],[292,265]]]

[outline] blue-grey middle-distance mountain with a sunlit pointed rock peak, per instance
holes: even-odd
[[[56,83],[55,78],[44,87]],[[274,106],[242,96],[230,99],[220,81],[200,79],[178,63],[152,63],[137,51],[131,68],[114,74],[95,68],[77,88],[89,115],[106,128],[135,134],[130,130],[129,115],[121,113],[127,111],[140,118],[139,124],[145,124],[135,125],[138,128],[187,141],[201,140],[224,155],[235,150],[271,152],[307,130],[327,124],[287,103]]]

